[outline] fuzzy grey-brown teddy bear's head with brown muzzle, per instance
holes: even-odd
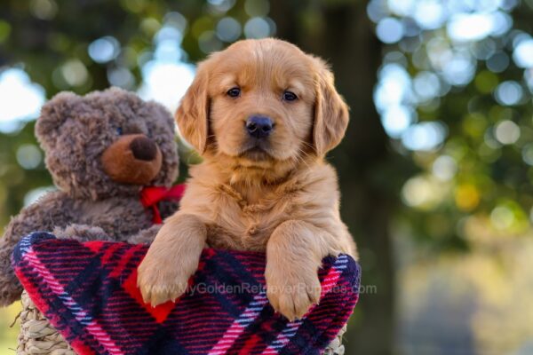
[[[171,114],[122,89],[61,92],[43,106],[36,137],[54,183],[75,197],[133,195],[178,175]]]

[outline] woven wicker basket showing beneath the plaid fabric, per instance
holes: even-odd
[[[20,312],[20,334],[17,354],[51,354],[51,355],[76,355],[70,345],[63,339],[54,327],[44,318],[43,313],[37,310],[36,305],[29,299],[26,291],[22,293],[22,312]],[[337,337],[324,351],[325,355],[344,355],[342,335],[346,326],[338,333]]]

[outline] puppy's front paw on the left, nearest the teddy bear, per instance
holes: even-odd
[[[144,302],[156,306],[175,301],[187,291],[188,280],[195,273],[198,260],[191,257],[163,260],[147,255],[139,265],[137,286]]]

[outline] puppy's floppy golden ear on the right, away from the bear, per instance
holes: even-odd
[[[338,146],[348,126],[348,106],[335,90],[333,74],[322,59],[313,58],[315,70],[313,145],[318,156]]]

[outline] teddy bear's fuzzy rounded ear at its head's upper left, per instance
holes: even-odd
[[[61,125],[73,114],[81,99],[73,92],[60,92],[44,104],[36,122],[36,138],[43,148],[54,145]]]

